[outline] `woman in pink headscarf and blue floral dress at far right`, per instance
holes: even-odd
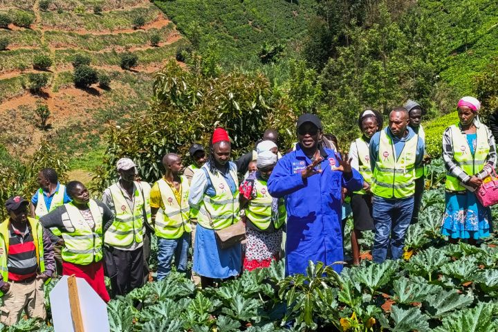
[[[459,100],[459,123],[443,134],[443,160],[447,170],[446,209],[441,234],[451,243],[477,239],[492,232],[491,210],[484,208],[474,191],[492,173],[496,163],[495,138],[479,121],[481,103],[473,97]]]

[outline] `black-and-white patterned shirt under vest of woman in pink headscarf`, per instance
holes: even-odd
[[[486,127],[486,125],[482,123],[476,124],[476,127],[479,126]],[[460,124],[459,129],[461,130]],[[488,144],[490,145],[490,151],[488,153],[488,158],[486,158],[486,165],[484,165],[481,172],[475,174],[481,180],[483,178],[486,178],[486,176],[488,176],[492,172],[492,167],[495,167],[497,160],[495,138],[492,136],[492,133],[488,129],[488,127],[486,127],[486,131],[488,132]],[[461,132],[463,133],[463,130]],[[461,169],[461,167],[457,165],[457,162],[453,159],[453,151],[454,149],[452,145],[451,129],[450,127],[448,127],[443,133],[443,160],[445,163],[446,172],[449,175],[458,178],[461,183],[467,183],[470,180],[470,176],[474,174],[465,173],[465,171],[463,171],[463,169]]]

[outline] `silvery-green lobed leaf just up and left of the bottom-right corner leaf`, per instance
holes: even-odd
[[[459,295],[456,290],[439,291],[439,293],[427,296],[423,306],[432,317],[440,318],[451,311],[470,306],[474,297]]]

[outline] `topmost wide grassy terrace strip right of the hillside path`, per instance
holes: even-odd
[[[148,8],[103,12],[102,15],[88,12],[81,15],[74,12],[62,12],[62,14],[42,12],[41,15],[43,25],[55,30],[115,31],[133,28],[133,19],[138,16],[144,17],[146,24],[154,21],[159,12],[158,8],[150,6]]]

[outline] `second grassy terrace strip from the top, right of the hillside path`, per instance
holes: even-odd
[[[133,46],[148,46],[150,37],[156,33],[167,39],[172,32],[173,24],[160,29],[137,30],[136,33],[119,33],[117,35],[81,35],[64,31],[47,31],[45,33],[46,42],[55,47],[75,47],[82,50],[100,51],[110,48],[131,48]]]

